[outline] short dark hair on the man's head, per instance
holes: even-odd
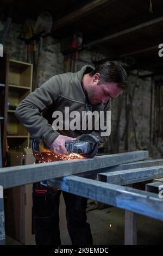
[[[100,74],[100,83],[116,82],[123,90],[127,88],[127,74],[121,65],[116,62],[105,62],[90,72],[90,76]]]

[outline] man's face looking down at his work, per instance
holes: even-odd
[[[87,96],[91,104],[106,103],[110,99],[115,99],[123,90],[115,82],[101,83],[93,82],[87,87]]]

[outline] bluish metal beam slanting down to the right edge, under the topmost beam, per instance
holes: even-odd
[[[151,192],[74,175],[49,180],[48,185],[163,221],[162,200],[158,198],[158,195]]]

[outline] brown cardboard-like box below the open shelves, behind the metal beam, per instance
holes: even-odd
[[[10,153],[10,165],[33,164],[32,149],[24,153]],[[32,231],[32,184],[9,188],[4,191],[5,231],[24,245],[35,242]]]

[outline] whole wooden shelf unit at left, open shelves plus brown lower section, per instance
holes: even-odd
[[[9,60],[7,109],[7,142],[10,166],[33,163],[25,156],[29,133],[15,116],[15,108],[32,92],[33,65]],[[1,82],[1,81],[0,81]],[[32,184],[9,188],[5,195],[5,230],[7,235],[28,244],[34,242],[32,232]],[[25,203],[26,202],[26,203]]]

